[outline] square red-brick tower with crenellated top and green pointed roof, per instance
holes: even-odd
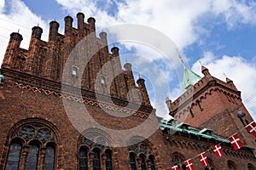
[[[212,129],[225,138],[253,122],[233,81],[212,77],[203,65],[201,72],[202,78],[184,69],[183,94],[173,102],[166,101],[171,116],[193,127]],[[252,135],[242,131],[241,136],[246,144],[256,146]]]

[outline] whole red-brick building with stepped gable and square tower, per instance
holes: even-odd
[[[48,42],[33,27],[28,49],[19,33],[10,35],[0,70],[0,169],[182,169],[189,158],[195,169],[256,169],[255,139],[241,130],[253,118],[230,79],[204,66],[202,78],[185,69],[183,94],[166,99],[174,118],[158,122],[143,78],[136,85],[131,64],[122,69],[119,48],[109,54],[94,18],[85,23],[79,13],[77,20],[74,28],[65,17],[64,35],[50,22]],[[148,119],[154,123],[141,126]],[[148,138],[137,135],[151,128]],[[240,150],[227,139],[236,132]],[[210,149],[218,143],[224,156],[217,159]],[[203,151],[206,168],[195,158]]]

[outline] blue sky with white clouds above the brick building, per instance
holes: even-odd
[[[253,98],[256,95],[254,1],[0,0],[0,64],[11,32],[19,31],[24,38],[21,47],[28,48],[32,26],[41,26],[44,29],[42,38],[47,41],[49,21],[58,21],[63,33],[64,17],[72,16],[76,27],[78,12],[83,12],[85,19],[90,16],[96,18],[97,31],[108,32],[108,27],[121,24],[148,26],[149,30],[159,31],[172,40],[170,47],[177,47],[186,65],[200,76],[199,61],[207,66],[212,76],[225,81],[225,74],[232,79],[241,90],[247,109],[256,118],[256,97]],[[140,42],[117,44],[124,56],[123,64],[131,62],[135,77],[140,74],[148,80],[152,104],[159,116],[165,116],[165,95],[173,100],[181,93],[177,80],[181,79],[182,73],[175,66],[175,59],[168,63],[160,51]],[[142,56],[142,59],[132,56]],[[138,63],[143,63],[143,70],[137,70],[142,66]],[[154,69],[160,70],[160,76],[152,76]],[[167,85],[163,85],[165,83]]]

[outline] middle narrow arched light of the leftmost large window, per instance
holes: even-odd
[[[37,169],[38,167],[38,144],[30,144],[26,158],[26,170]]]

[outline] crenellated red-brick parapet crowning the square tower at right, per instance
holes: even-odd
[[[207,95],[211,95],[216,91],[224,94],[226,99],[231,103],[235,105],[241,104],[241,92],[237,90],[233,81],[227,78],[226,82],[223,82],[216,77],[212,77],[205,66],[202,66],[202,73],[204,77],[196,82],[194,86],[185,91],[173,102],[171,101],[170,103],[169,101],[168,105],[170,106],[168,108],[172,108],[170,111],[172,116],[177,115],[178,111],[187,111],[188,108],[193,109],[193,107],[199,105],[198,102],[203,102],[204,99],[207,99]]]

